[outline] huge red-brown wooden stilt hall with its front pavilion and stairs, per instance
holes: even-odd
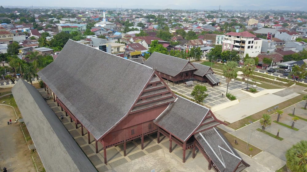
[[[196,70],[190,62],[186,66]],[[209,169],[248,166],[215,128],[222,122],[208,108],[174,95],[151,67],[69,40],[37,74],[82,136],[87,131],[88,144],[94,137],[96,153],[102,144],[104,163],[107,148],[123,144],[126,156],[126,142],[141,137],[143,149],[144,136],[157,132],[158,142],[160,134],[169,137],[170,151],[172,141],[183,148],[183,162],[185,151],[197,147]]]

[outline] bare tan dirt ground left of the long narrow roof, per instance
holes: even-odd
[[[7,122],[12,119],[12,124]],[[0,105],[0,168],[7,168],[7,171],[28,171],[35,172],[31,157],[32,152],[28,144],[32,141],[25,142],[20,124],[14,123],[16,115],[13,108]],[[33,152],[36,153],[36,152]]]

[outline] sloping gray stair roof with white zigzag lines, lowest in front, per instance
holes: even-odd
[[[220,171],[235,171],[243,161],[215,127],[195,134],[195,138]]]

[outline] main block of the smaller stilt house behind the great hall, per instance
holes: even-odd
[[[192,79],[197,70],[189,60],[157,52],[153,52],[144,65],[155,68],[161,78],[173,83]]]

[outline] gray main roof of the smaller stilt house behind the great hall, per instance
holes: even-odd
[[[149,66],[150,68],[156,67],[159,72],[170,76],[176,76],[188,63],[189,60],[153,52],[144,62],[144,65]]]

